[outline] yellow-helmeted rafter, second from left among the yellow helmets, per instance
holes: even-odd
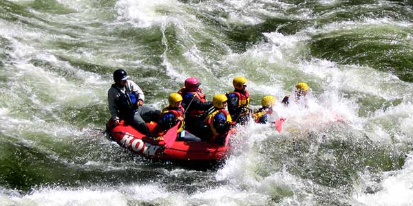
[[[213,108],[208,111],[207,118],[204,120],[204,124],[209,127],[212,133],[208,135],[212,136],[209,141],[217,144],[224,144],[226,134],[233,125],[231,115],[225,109],[227,101],[228,98],[222,93],[214,95],[212,100]]]

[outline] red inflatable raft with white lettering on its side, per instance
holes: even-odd
[[[156,124],[147,123],[153,132]],[[124,124],[114,126],[112,121],[107,124],[107,133],[120,146],[131,150],[138,155],[153,159],[167,159],[176,161],[217,161],[225,159],[230,150],[229,138],[233,130],[225,135],[224,144],[215,144],[207,141],[178,141],[180,123],[173,126],[163,135],[162,140],[153,140],[145,137],[132,126]]]

